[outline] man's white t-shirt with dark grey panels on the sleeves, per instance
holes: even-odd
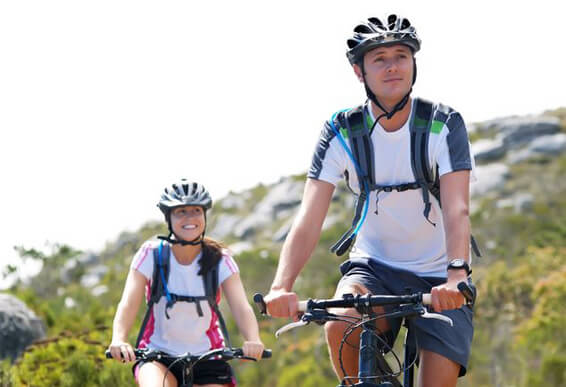
[[[414,109],[414,100],[411,109]],[[436,105],[435,105],[436,106]],[[454,110],[441,106],[435,119],[444,118],[444,125],[433,125],[428,140],[431,166],[438,165],[439,176],[472,170],[474,160],[464,121]],[[411,112],[412,114],[412,112]],[[444,114],[444,117],[440,117]],[[371,122],[375,117],[371,113]],[[411,117],[411,115],[409,115]],[[440,122],[441,123],[441,122]],[[387,132],[377,123],[371,134],[375,155],[375,182],[379,185],[412,183],[409,120],[399,130]],[[346,139],[346,144],[348,140]],[[349,144],[348,144],[349,146]],[[359,193],[355,167],[328,123],[322,130],[315,149],[309,178],[336,185],[346,176],[348,186]],[[473,176],[473,173],[472,173]],[[358,232],[350,257],[376,259],[420,276],[446,276],[446,243],[442,213],[438,201],[430,195],[432,209],[429,219],[423,215],[422,190],[376,192],[368,195],[367,217]],[[378,210],[375,214],[376,209]]]

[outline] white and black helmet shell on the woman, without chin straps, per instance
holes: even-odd
[[[201,206],[208,210],[212,207],[212,198],[202,184],[181,179],[165,187],[157,207],[168,218],[172,209],[183,206]]]

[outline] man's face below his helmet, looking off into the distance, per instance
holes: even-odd
[[[413,84],[413,53],[402,44],[377,47],[364,56],[366,83],[378,100],[389,104],[399,102]],[[354,65],[360,81],[362,71]]]

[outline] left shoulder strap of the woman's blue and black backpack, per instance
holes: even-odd
[[[169,246],[169,243],[161,241],[160,246],[153,249],[153,274],[151,279],[151,290],[149,293],[149,300],[147,301],[145,316],[140,326],[138,338],[136,339],[136,348],[139,347],[140,342],[143,338],[145,327],[147,326],[147,323],[149,321],[153,305],[157,303],[161,297],[163,297],[163,290],[165,288],[163,280],[167,281],[169,279],[170,258],[171,247]],[[163,277],[161,276],[161,267],[163,267]]]

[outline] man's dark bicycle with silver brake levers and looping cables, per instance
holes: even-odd
[[[458,284],[458,289],[464,295],[468,305],[475,301],[475,287],[466,282]],[[254,296],[262,314],[267,314],[266,305],[261,294]],[[437,313],[428,312],[425,305],[430,305],[430,294],[415,293],[402,296],[383,295],[352,295],[345,294],[342,298],[299,301],[298,310],[302,312],[299,321],[287,324],[280,328],[275,336],[291,329],[308,325],[315,322],[319,325],[327,321],[343,321],[350,324],[344,332],[339,358],[342,373],[346,375],[342,365],[342,348],[348,337],[357,329],[361,328],[359,345],[359,370],[357,376],[346,375],[338,387],[412,387],[414,385],[414,366],[417,362],[416,345],[409,343],[409,333],[405,336],[403,361],[395,354],[395,351],[380,337],[376,329],[376,321],[383,318],[403,318],[406,327],[411,318],[432,318],[446,322],[447,327],[452,326],[452,320]],[[384,313],[375,313],[373,307],[387,306]],[[356,308],[361,317],[341,316],[330,313],[330,308]],[[385,353],[390,351],[396,363],[396,371],[393,371],[385,359]],[[403,374],[403,383],[398,377]],[[357,380],[358,382],[354,382]]]

